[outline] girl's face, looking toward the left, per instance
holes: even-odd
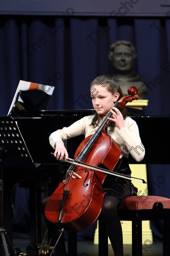
[[[96,112],[104,118],[113,108],[114,102],[119,98],[119,93],[111,94],[107,87],[94,85],[90,88],[92,104]]]

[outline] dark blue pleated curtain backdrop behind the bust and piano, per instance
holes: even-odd
[[[83,97],[89,94],[90,82],[109,71],[108,49],[117,40],[131,41],[136,47],[134,74],[138,74],[145,85],[154,83],[154,77],[159,76],[159,83],[150,84],[145,95],[149,104],[143,114],[170,115],[170,19],[0,18],[1,116],[7,115],[19,80],[55,86],[49,110],[92,108],[88,95]],[[159,123],[155,129],[159,129]],[[159,145],[156,150],[155,157],[159,157]],[[165,177],[165,182],[155,188],[153,195],[169,197],[169,165],[148,166],[149,183],[156,182],[159,175]],[[151,222],[151,228],[154,238],[161,239],[160,222]]]

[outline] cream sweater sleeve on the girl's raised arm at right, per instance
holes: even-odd
[[[127,119],[126,127],[122,128],[117,133],[124,140],[127,147],[127,152],[125,152],[124,156],[130,153],[137,162],[140,162],[144,158],[145,150],[139,136],[138,126],[131,118]]]

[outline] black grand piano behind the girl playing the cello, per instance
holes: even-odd
[[[40,111],[36,117],[10,117],[12,122],[17,122],[19,131],[22,134],[25,145],[36,165],[22,167],[19,160],[15,159],[15,152],[7,154],[2,150],[3,131],[0,130],[0,225],[11,234],[12,223],[12,191],[20,184],[30,188],[30,244],[35,245],[41,242],[41,222],[39,217],[40,201],[42,199],[42,183],[48,184],[46,193],[53,191],[68,168],[65,162],[56,161],[50,152],[53,148],[49,145],[49,135],[64,126],[69,126],[73,122],[90,115],[92,110],[59,110]],[[168,116],[131,116],[139,127],[142,143],[146,149],[144,159],[140,163],[144,164],[169,164],[169,150],[165,148],[165,136],[169,133]],[[3,117],[1,117],[3,120]],[[159,129],[157,129],[159,124]],[[0,124],[1,127],[1,124]],[[69,157],[74,157],[77,146],[83,140],[83,136],[67,140],[66,148]],[[9,155],[13,155],[10,156]],[[22,156],[21,156],[22,158]],[[16,162],[15,162],[16,160]],[[5,164],[4,164],[5,163]],[[129,158],[129,163],[134,163],[133,158]],[[44,186],[43,186],[44,189]],[[36,207],[35,207],[36,206]],[[22,209],[24,211],[24,209]],[[23,218],[23,215],[20,216]],[[12,237],[11,237],[12,239]],[[36,246],[35,246],[36,247]],[[4,256],[2,242],[0,247],[1,255]],[[31,250],[27,255],[32,254]]]

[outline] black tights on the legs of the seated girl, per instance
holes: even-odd
[[[55,245],[60,233],[58,232],[57,226],[46,219],[45,217],[45,207],[49,197],[42,201],[42,214],[46,222],[46,226],[49,231],[49,235],[52,238],[53,244]],[[117,215],[117,205],[119,204],[119,199],[113,196],[108,196],[104,198],[102,204],[102,214],[106,223],[107,234],[109,236],[114,255],[123,256],[123,238],[122,238],[122,227],[121,222]],[[66,256],[66,248],[64,243],[64,236],[60,237],[60,241],[55,248],[56,256]]]

